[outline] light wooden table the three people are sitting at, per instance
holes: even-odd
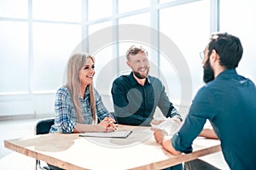
[[[44,134],[4,140],[4,146],[65,169],[161,169],[220,151],[216,139],[197,138],[190,154],[172,156],[154,140],[149,127],[132,130],[127,139],[79,137],[79,133]]]

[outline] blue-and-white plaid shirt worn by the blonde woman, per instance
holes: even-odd
[[[105,117],[113,117],[102,103],[100,94],[94,88],[96,97],[96,113],[99,121]],[[79,96],[83,110],[84,124],[91,124],[93,116],[90,111],[89,88],[85,89],[84,99]],[[67,87],[62,86],[55,95],[55,124],[50,128],[49,133],[72,133],[77,124],[77,117],[73,105],[73,99]]]

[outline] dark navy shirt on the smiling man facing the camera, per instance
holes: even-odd
[[[181,119],[168,99],[165,87],[156,77],[148,76],[142,86],[131,72],[114,80],[111,93],[114,112],[120,124],[149,126],[156,106],[166,117]]]

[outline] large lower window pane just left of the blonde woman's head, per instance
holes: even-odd
[[[67,59],[81,42],[81,34],[81,27],[76,25],[33,25],[34,91],[61,86]]]

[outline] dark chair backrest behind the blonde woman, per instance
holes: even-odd
[[[49,133],[50,127],[55,123],[55,118],[42,119],[36,122],[35,134]]]

